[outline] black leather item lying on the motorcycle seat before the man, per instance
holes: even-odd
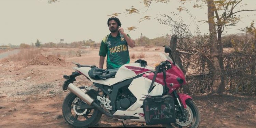
[[[109,72],[106,69],[100,69],[100,68],[92,68],[91,70],[89,70],[88,72],[89,76],[91,79],[94,80],[105,80],[108,78],[114,78],[116,75],[116,72]]]

